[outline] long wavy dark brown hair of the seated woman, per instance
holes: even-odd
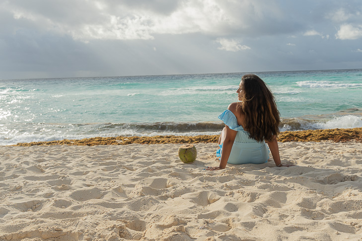
[[[244,129],[257,141],[272,141],[279,134],[280,113],[273,93],[255,74],[241,78],[238,107],[245,115]]]

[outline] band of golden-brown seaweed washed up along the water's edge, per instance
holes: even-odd
[[[29,143],[17,143],[9,146],[48,146],[48,145],[128,145],[138,144],[183,144],[183,143],[217,143],[219,135],[197,135],[197,136],[118,136],[118,137],[93,137],[84,139],[64,139],[55,141],[39,141]],[[284,131],[278,136],[278,142],[362,142],[362,127],[350,129],[319,129]]]

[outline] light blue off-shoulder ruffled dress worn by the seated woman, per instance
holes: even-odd
[[[218,118],[232,130],[236,130],[234,144],[232,145],[231,153],[227,163],[230,164],[262,164],[269,159],[269,148],[265,141],[258,142],[255,139],[249,138],[249,132],[245,131],[241,125],[238,125],[234,114],[226,110],[221,113]],[[217,156],[221,157],[222,145],[217,150]]]

